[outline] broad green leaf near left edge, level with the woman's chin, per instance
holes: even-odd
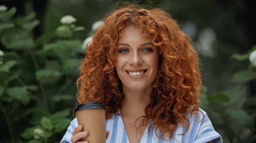
[[[29,103],[29,93],[26,87],[9,87],[6,93],[17,100],[20,100],[24,105]]]

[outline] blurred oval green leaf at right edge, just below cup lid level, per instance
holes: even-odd
[[[246,126],[247,128],[251,129],[254,125],[254,118],[247,114],[244,110],[241,109],[230,109],[227,110],[227,114],[232,118],[232,120],[241,123],[242,125]]]

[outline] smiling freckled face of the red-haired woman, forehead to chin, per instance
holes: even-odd
[[[157,76],[159,53],[141,32],[141,28],[130,25],[119,36],[116,71],[123,89],[151,89]]]

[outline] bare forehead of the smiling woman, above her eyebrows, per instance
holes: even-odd
[[[147,31],[143,31],[143,34],[148,34]],[[147,39],[142,34],[142,28],[135,27],[134,25],[125,26],[119,34],[118,42],[151,42],[151,39]]]

